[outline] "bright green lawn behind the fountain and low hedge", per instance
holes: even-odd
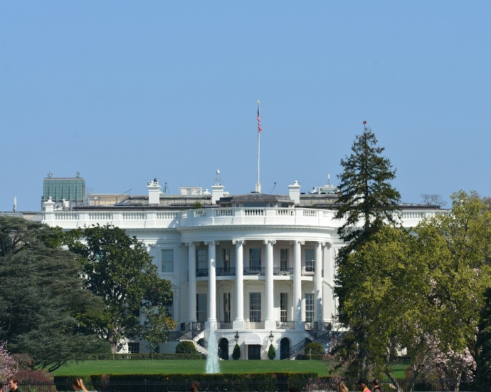
[[[204,373],[206,361],[199,360],[117,360],[70,362],[53,373],[58,376],[90,376],[93,374],[141,374],[141,373]],[[404,378],[406,364],[393,366],[394,376]],[[312,371],[327,376],[323,361],[220,361],[221,373],[270,373],[277,371]]]

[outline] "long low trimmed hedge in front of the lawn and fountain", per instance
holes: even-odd
[[[89,391],[104,392],[171,392],[188,391],[192,381],[201,384],[200,391],[285,392],[290,386],[305,389],[317,379],[317,373],[251,373],[251,374],[104,374],[84,378]],[[55,376],[58,391],[69,391],[75,376]]]

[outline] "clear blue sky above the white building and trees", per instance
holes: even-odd
[[[0,210],[93,192],[336,185],[366,120],[404,202],[491,195],[491,1],[1,1]]]

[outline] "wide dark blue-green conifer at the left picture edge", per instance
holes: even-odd
[[[58,228],[0,217],[0,340],[49,371],[105,351],[90,329],[102,300],[83,288],[80,260],[61,243]]]

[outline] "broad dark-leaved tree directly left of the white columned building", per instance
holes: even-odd
[[[164,332],[175,327],[165,311],[172,299],[171,283],[159,278],[137,237],[119,227],[97,225],[68,232],[65,243],[83,258],[85,287],[105,302],[95,330],[113,352],[125,338],[139,336],[154,345],[166,340]]]

